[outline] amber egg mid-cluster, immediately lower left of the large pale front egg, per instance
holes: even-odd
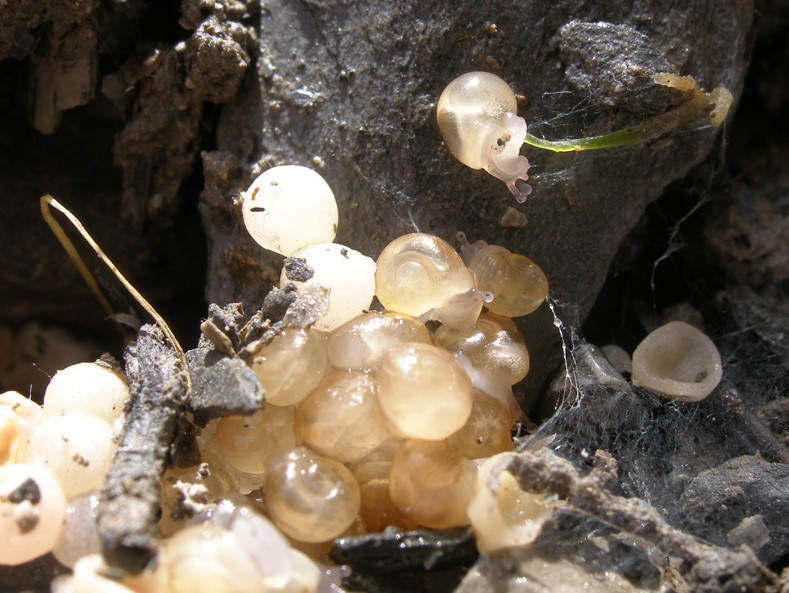
[[[296,436],[332,459],[361,459],[389,436],[376,391],[366,373],[329,375],[296,408]]]

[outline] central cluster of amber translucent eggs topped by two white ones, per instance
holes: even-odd
[[[325,289],[328,308],[251,354],[266,403],[209,423],[198,439],[203,460],[302,544],[388,525],[467,524],[481,460],[513,447],[512,385],[529,355],[509,317],[544,300],[544,275],[503,248],[478,242],[461,256],[425,233],[395,239],[373,261],[327,242],[336,208],[325,223],[294,222],[318,210],[310,188],[320,184],[314,171],[286,167],[285,191],[279,169],[245,192],[244,221],[263,247],[302,262],[286,262],[280,288]],[[274,212],[282,224],[258,225]],[[496,262],[499,273],[486,276]],[[374,297],[382,311],[371,310]]]

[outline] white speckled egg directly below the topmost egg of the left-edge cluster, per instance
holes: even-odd
[[[50,470],[72,499],[103,486],[113,436],[110,424],[81,412],[51,416],[33,431],[25,462]]]

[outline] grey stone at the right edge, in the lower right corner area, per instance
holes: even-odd
[[[761,516],[769,540],[755,549],[762,562],[789,554],[789,466],[752,455],[700,473],[682,494],[682,525],[717,545],[742,522]]]

